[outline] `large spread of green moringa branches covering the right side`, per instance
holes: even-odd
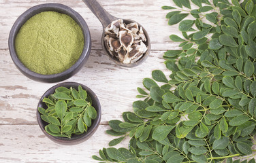
[[[170,75],[152,72],[138,88],[133,112],[111,120],[114,146],[99,150],[100,162],[255,162],[256,1],[173,0],[166,15],[178,24],[181,50],[163,55]],[[191,10],[191,3],[197,9]],[[193,16],[193,19],[187,16]],[[168,79],[170,78],[170,79]],[[159,83],[163,83],[159,86]],[[121,137],[120,137],[121,136]],[[234,160],[236,158],[236,160]],[[250,159],[252,158],[252,159]]]

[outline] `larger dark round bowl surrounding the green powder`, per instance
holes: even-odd
[[[32,16],[35,16],[35,14],[39,14],[40,12],[47,12],[47,11],[53,11],[53,12],[59,12],[61,14],[66,14],[73,18],[80,28],[82,29],[82,33],[84,35],[84,49],[82,50],[82,54],[80,58],[78,58],[77,62],[71,66],[69,69],[61,72],[56,73],[52,75],[43,75],[39,73],[35,73],[25,67],[25,65],[20,62],[16,50],[15,50],[15,37],[18,34],[18,31],[20,31],[21,26],[29,20]],[[10,31],[9,35],[9,50],[10,54],[12,56],[12,60],[14,61],[14,64],[16,67],[20,70],[21,73],[29,77],[30,79],[39,81],[39,82],[47,82],[47,83],[53,83],[53,82],[60,82],[65,79],[68,79],[72,75],[75,75],[78,73],[80,69],[84,66],[84,63],[89,58],[89,54],[91,52],[91,35],[89,28],[82,18],[80,14],[78,14],[76,11],[72,10],[70,7],[66,5],[62,5],[59,3],[46,3],[42,5],[36,5],[34,7],[31,7],[29,10],[21,14],[16,22],[14,22],[14,25],[12,26],[12,29]]]

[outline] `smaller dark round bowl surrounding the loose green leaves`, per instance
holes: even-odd
[[[97,111],[97,117],[95,120],[92,120],[92,124],[91,126],[88,128],[88,130],[82,134],[72,134],[71,138],[66,138],[66,137],[54,137],[50,134],[48,134],[46,132],[46,130],[44,129],[45,126],[48,125],[47,122],[44,122],[44,120],[42,120],[41,118],[41,113],[39,113],[38,111],[38,107],[42,107],[44,109],[46,109],[46,104],[43,103],[43,99],[44,97],[48,97],[50,96],[50,94],[53,94],[55,92],[55,89],[63,86],[65,88],[75,88],[76,90],[78,90],[78,86],[82,86],[82,88],[84,90],[86,90],[87,94],[91,97],[92,101],[93,101],[93,107],[96,109]],[[65,82],[65,83],[61,83],[61,84],[57,84],[55,86],[53,86],[52,88],[50,88],[49,90],[47,90],[44,95],[40,98],[39,103],[37,105],[37,122],[39,124],[39,127],[41,128],[41,130],[44,132],[44,134],[46,135],[46,137],[48,137],[50,140],[54,141],[55,143],[59,143],[62,145],[76,145],[78,143],[82,143],[83,141],[86,141],[87,139],[89,139],[97,130],[98,126],[99,126],[99,122],[101,121],[101,105],[99,103],[99,99],[97,98],[96,94],[88,87],[76,83],[76,82]]]

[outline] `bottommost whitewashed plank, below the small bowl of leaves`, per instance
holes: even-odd
[[[50,141],[36,125],[0,125],[0,162],[97,162],[91,158],[108,147],[114,137],[101,125],[93,136],[78,145],[59,145]],[[126,139],[116,147],[127,147]]]

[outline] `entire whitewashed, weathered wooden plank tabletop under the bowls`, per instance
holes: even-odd
[[[62,3],[76,10],[91,31],[92,50],[84,67],[65,82],[78,82],[89,86],[97,94],[102,108],[101,124],[91,139],[79,145],[56,144],[44,136],[36,120],[39,98],[55,84],[35,82],[16,69],[8,50],[7,39],[16,18],[29,7],[42,3]],[[142,65],[125,68],[115,65],[101,48],[102,26],[82,0],[0,0],[0,162],[96,162],[91,158],[99,149],[108,147],[116,137],[106,134],[109,120],[121,120],[121,113],[132,111],[138,100],[136,88],[142,79],[151,77],[151,71],[161,69],[169,75],[163,64],[163,52],[178,49],[169,35],[178,33],[168,26],[162,5],[170,0],[100,0],[110,14],[140,22],[148,31],[152,50]],[[128,139],[116,147],[127,147]]]

